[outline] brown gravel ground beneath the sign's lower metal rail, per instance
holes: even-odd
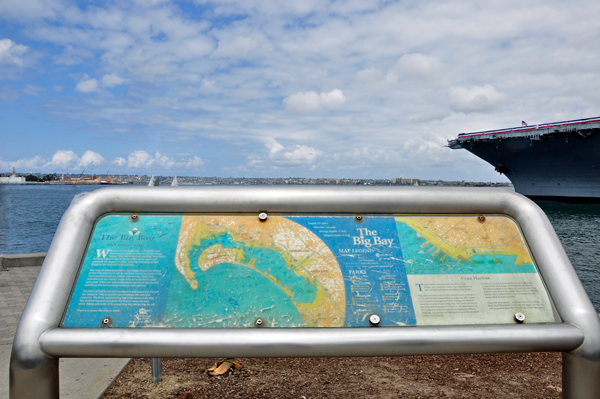
[[[163,359],[153,384],[150,359],[134,359],[102,398],[561,397],[558,353],[237,359],[242,369],[208,376],[216,360]]]

